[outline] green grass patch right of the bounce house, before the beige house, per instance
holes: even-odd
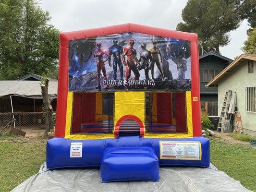
[[[256,149],[241,144],[226,144],[210,137],[210,161],[219,170],[256,192]]]

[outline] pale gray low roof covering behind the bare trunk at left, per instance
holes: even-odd
[[[48,94],[51,98],[57,97],[58,82],[49,82]],[[0,81],[1,96],[23,96],[42,98],[39,81]]]

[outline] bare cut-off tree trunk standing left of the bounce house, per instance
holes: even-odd
[[[45,82],[41,82],[41,90],[43,95],[43,104],[44,104],[44,112],[45,112],[45,136],[47,136],[48,132],[50,131],[52,127],[52,107],[50,105],[49,101],[49,95],[48,95],[48,85],[49,85],[49,79],[47,78]]]

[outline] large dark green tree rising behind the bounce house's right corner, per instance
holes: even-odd
[[[184,22],[176,30],[198,34],[205,50],[219,53],[219,47],[230,42],[229,32],[253,18],[255,7],[255,0],[188,0],[182,11]]]

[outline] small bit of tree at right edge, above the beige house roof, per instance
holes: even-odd
[[[247,40],[242,48],[246,54],[256,54],[256,27],[248,33]]]

